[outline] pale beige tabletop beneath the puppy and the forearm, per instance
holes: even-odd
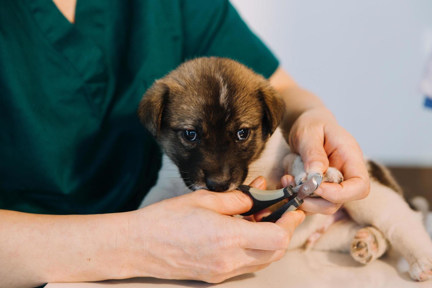
[[[432,214],[428,218],[428,231],[432,232]],[[93,283],[51,283],[46,288],[432,288],[432,279],[414,282],[407,269],[408,264],[397,255],[387,255],[363,266],[346,254],[293,250],[264,270],[219,284],[146,277]]]

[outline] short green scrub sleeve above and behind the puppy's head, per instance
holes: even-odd
[[[279,62],[228,0],[184,0],[184,59],[219,56],[270,77]]]

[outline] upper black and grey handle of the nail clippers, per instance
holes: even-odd
[[[259,190],[247,185],[240,185],[237,189],[251,196],[254,201],[252,209],[241,214],[242,216],[255,214],[256,212],[270,207],[294,194],[292,192],[292,185],[279,190]]]

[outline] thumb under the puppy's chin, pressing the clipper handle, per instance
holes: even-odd
[[[266,180],[264,177],[259,176],[253,180],[249,186],[264,190],[266,189]],[[237,215],[248,212],[254,203],[248,194],[240,190],[233,190],[226,193],[210,192],[207,190],[200,191],[200,193],[203,194],[198,201],[200,206],[212,209],[224,215]]]

